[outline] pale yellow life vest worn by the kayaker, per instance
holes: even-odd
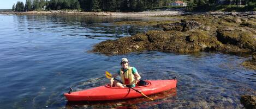
[[[122,73],[122,68],[120,69],[120,76],[122,78],[122,82],[124,85],[134,85],[134,75],[132,73],[132,68],[133,67],[128,67],[126,72],[124,74]]]

